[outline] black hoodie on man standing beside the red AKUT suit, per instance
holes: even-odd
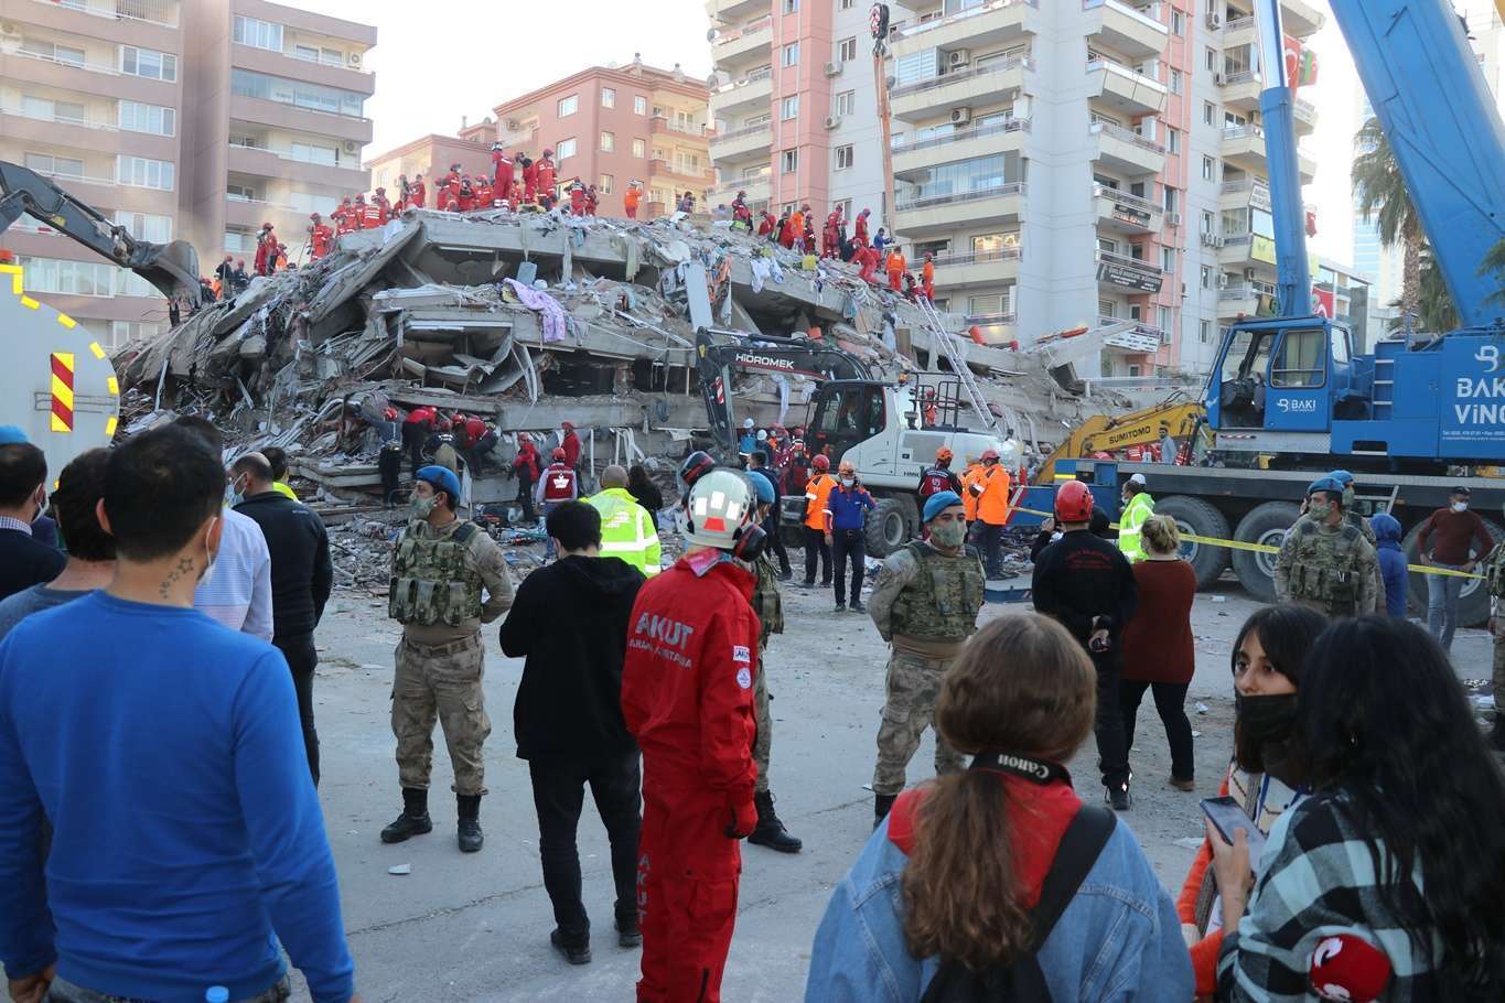
[[[620,558],[569,556],[518,586],[501,650],[527,659],[512,708],[519,759],[591,767],[637,747],[622,720],[622,660],[644,580]]]

